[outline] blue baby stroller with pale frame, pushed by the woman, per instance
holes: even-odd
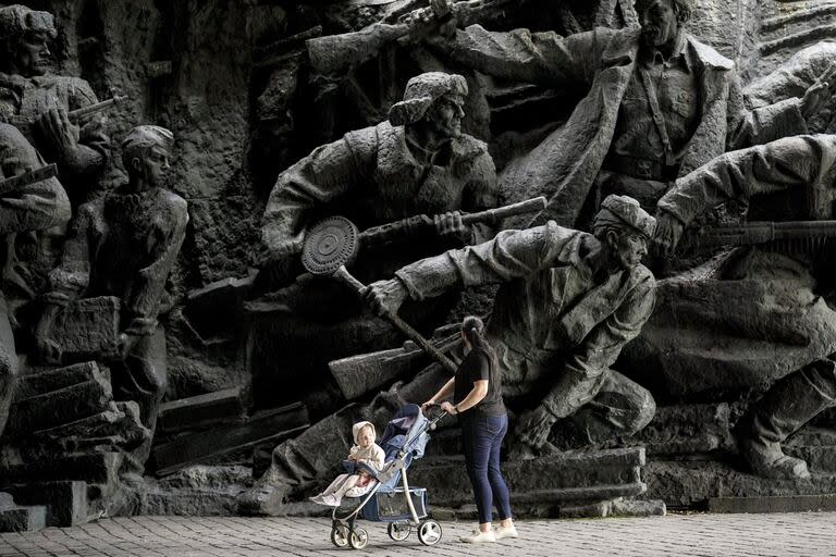
[[[355,524],[358,517],[372,522],[389,522],[389,536],[396,542],[406,540],[413,528],[417,529],[418,540],[423,545],[435,545],[441,541],[441,524],[427,519],[427,490],[410,487],[406,471],[413,460],[423,456],[430,438],[427,432],[445,414],[441,412],[430,421],[423,417],[420,407],[406,405],[386,424],[380,440],[386,454],[385,466],[380,472],[361,463],[344,462],[349,472],[364,470],[378,482],[359,497],[361,500],[354,509],[334,509],[331,516],[331,542],[334,545],[351,545],[354,549],[368,545],[369,533]],[[403,486],[398,486],[399,483]]]

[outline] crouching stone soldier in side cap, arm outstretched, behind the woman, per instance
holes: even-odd
[[[640,261],[655,220],[638,201],[610,196],[594,234],[554,222],[501,232],[478,246],[404,267],[368,296],[389,311],[463,286],[502,283],[487,331],[502,368],[509,405],[531,408],[518,440],[550,450],[562,418],[586,443],[630,435],[655,412],[651,394],[613,371],[622,348],[641,331],[654,305],[655,281]]]

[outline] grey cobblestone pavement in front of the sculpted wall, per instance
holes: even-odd
[[[442,522],[435,546],[415,533],[393,542],[383,523],[365,522],[369,545],[359,554],[423,556],[836,556],[836,513],[673,515],[664,518],[531,520],[519,540],[458,542],[472,524]],[[321,518],[136,517],[34,533],[0,534],[0,556],[247,557],[351,555],[330,542]]]

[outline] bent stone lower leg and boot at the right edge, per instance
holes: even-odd
[[[836,363],[819,360],[784,377],[740,420],[740,456],[764,478],[810,478],[807,462],[784,454],[780,443],[836,401]]]

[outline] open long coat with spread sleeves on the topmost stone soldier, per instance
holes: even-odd
[[[641,96],[637,89],[640,40],[638,28],[598,28],[566,38],[526,29],[489,33],[478,25],[458,32],[453,52],[458,61],[501,77],[588,91],[565,125],[518,168],[506,171],[503,189],[525,186],[527,195],[553,196],[543,218],[563,225],[576,223],[612,146],[624,143],[616,129],[630,129],[617,124],[630,109],[629,91]],[[683,41],[686,58],[676,67],[688,72],[680,81],[687,84],[693,78],[696,90],[686,87],[679,91],[686,96],[676,92],[664,101],[684,116],[684,132],[693,127],[677,154],[677,175],[726,150],[807,131],[799,99],[748,111],[734,63],[690,35],[685,34]],[[638,108],[647,110],[641,104],[640,99]]]

